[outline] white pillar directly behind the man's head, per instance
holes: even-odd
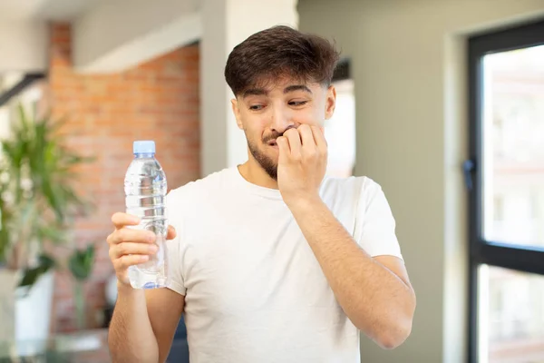
[[[230,107],[225,82],[228,54],[249,35],[274,25],[296,27],[296,0],[203,0],[200,48],[202,175],[248,159],[244,133]]]

